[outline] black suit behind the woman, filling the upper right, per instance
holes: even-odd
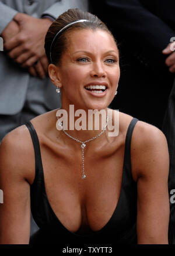
[[[175,36],[175,1],[90,0],[90,4],[120,49],[121,78],[111,107],[161,128],[174,78],[162,50]]]

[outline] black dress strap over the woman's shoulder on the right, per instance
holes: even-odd
[[[124,168],[125,172],[127,172],[128,178],[132,178],[131,174],[131,138],[132,138],[132,132],[134,130],[134,127],[136,125],[136,122],[139,120],[137,118],[132,118],[128,130],[127,130],[127,135],[125,139],[125,155],[124,155]]]

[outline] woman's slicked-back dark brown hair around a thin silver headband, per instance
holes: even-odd
[[[96,15],[93,15],[92,13],[82,11],[81,9],[75,8],[75,9],[69,9],[67,12],[62,13],[50,26],[48,29],[48,32],[46,34],[45,38],[45,50],[46,55],[51,63],[50,60],[50,47],[51,43],[53,42],[54,36],[58,31],[60,31],[64,26],[68,25],[69,23],[72,23],[74,21],[78,21],[79,19],[87,19],[88,22],[79,22],[68,29],[66,29],[64,32],[61,33],[61,35],[58,36],[58,38],[55,40],[55,43],[51,50],[51,59],[53,64],[59,64],[60,59],[62,56],[62,53],[65,52],[65,50],[68,47],[68,33],[70,33],[72,30],[75,29],[101,29],[108,33],[110,33],[111,36],[113,36],[108,30],[107,26],[100,21],[99,18],[97,18]],[[114,37],[113,37],[114,38]]]

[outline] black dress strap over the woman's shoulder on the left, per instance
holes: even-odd
[[[35,156],[35,179],[36,180],[36,176],[38,175],[38,172],[40,170],[43,170],[43,164],[41,161],[41,151],[40,151],[40,142],[38,140],[38,136],[36,133],[36,130],[33,127],[33,124],[31,124],[30,121],[26,122],[26,127],[29,129],[30,135],[31,135],[31,139],[33,141],[33,148],[34,148],[34,156]]]

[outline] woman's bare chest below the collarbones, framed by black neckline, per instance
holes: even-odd
[[[121,192],[124,146],[117,152],[87,149],[84,154],[83,180],[81,148],[72,151],[65,147],[59,153],[41,149],[48,203],[72,232],[103,228],[113,216]]]

